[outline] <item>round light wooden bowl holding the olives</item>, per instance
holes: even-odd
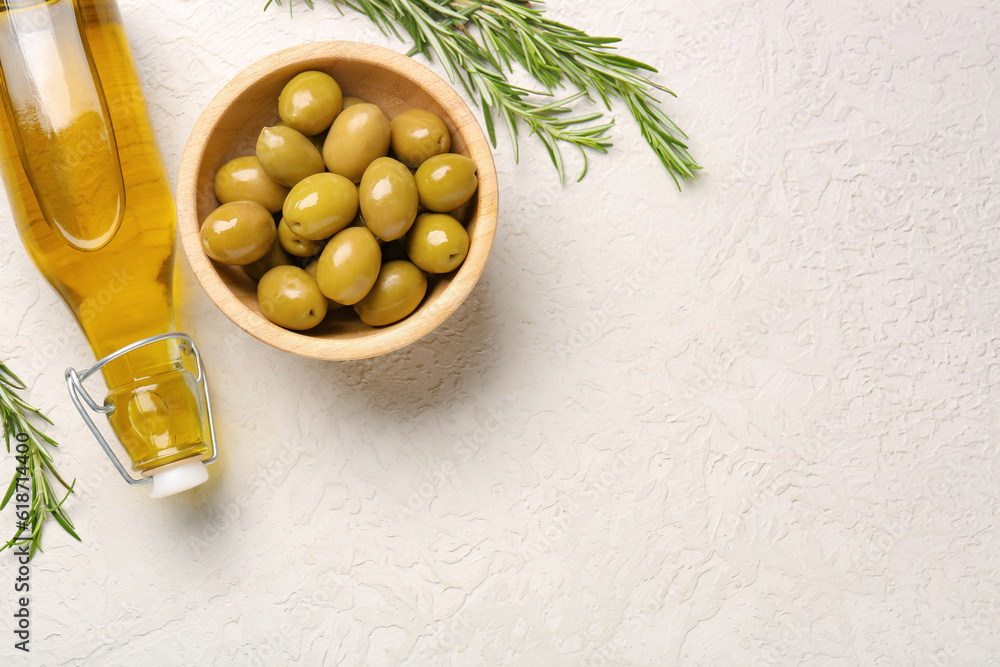
[[[469,206],[469,254],[457,271],[428,279],[427,296],[409,317],[369,327],[350,307],[332,311],[306,332],[283,329],[261,315],[256,283],[239,267],[212,262],[201,248],[201,222],[219,202],[215,173],[229,160],[253,155],[261,128],[278,122],[278,94],[293,76],[321,70],[353,95],[390,117],[411,108],[441,116],[454,153],[478,167],[479,191]],[[465,300],[486,265],[497,221],[497,177],[482,129],[462,98],[443,79],[389,49],[357,42],[318,42],[272,54],[240,72],[195,123],[177,177],[181,245],[198,282],[222,312],[244,331],[278,349],[313,359],[365,359],[402,348],[433,331]]]

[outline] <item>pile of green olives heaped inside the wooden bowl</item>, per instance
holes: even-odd
[[[437,115],[390,120],[323,72],[289,81],[278,115],[255,155],[216,174],[205,253],[242,266],[261,312],[287,329],[342,306],[371,326],[398,322],[420,305],[427,274],[454,271],[468,254],[458,211],[476,193],[475,163],[449,152]]]

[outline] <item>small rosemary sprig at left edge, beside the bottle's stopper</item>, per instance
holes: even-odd
[[[78,540],[80,536],[76,534],[73,522],[69,520],[66,510],[62,507],[66,498],[73,492],[73,485],[63,481],[56,472],[52,465],[52,456],[46,447],[59,445],[42,433],[32,420],[37,418],[49,424],[52,422],[21,398],[19,392],[24,390],[24,383],[7,368],[6,364],[0,362],[0,419],[3,420],[7,452],[11,451],[13,442],[17,461],[14,478],[7,487],[3,501],[0,502],[0,510],[5,508],[12,498],[15,500],[14,506],[18,509],[14,537],[0,547],[0,551],[30,543],[31,551],[28,554],[30,560],[34,557],[35,551],[41,549],[42,524],[50,516],[70,535]],[[66,488],[66,495],[62,500],[57,500],[52,490],[49,473]],[[73,484],[76,484],[75,480]]]

